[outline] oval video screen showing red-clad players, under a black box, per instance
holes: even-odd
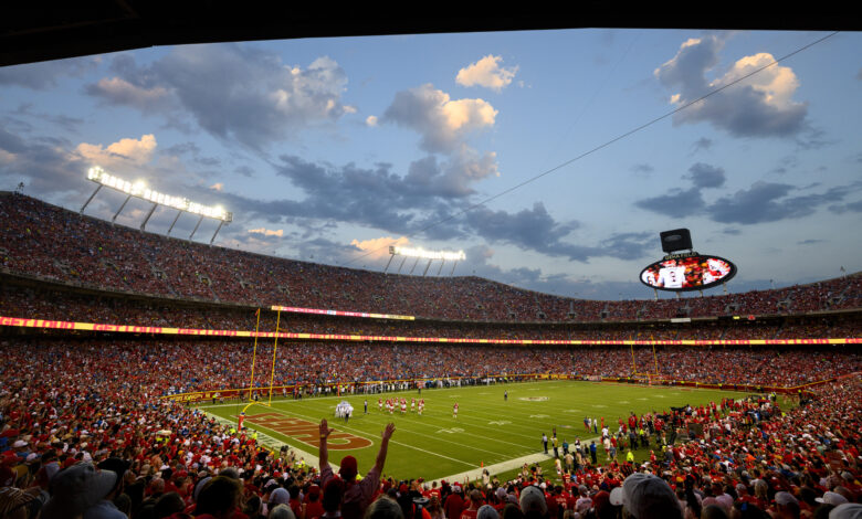
[[[688,256],[655,262],[641,272],[641,283],[660,290],[701,290],[730,279],[736,265],[717,256]]]

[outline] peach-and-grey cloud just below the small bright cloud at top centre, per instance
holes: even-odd
[[[497,110],[484,99],[453,100],[425,84],[398,92],[382,121],[418,131],[425,151],[448,153],[458,150],[467,135],[494,126],[496,116]]]

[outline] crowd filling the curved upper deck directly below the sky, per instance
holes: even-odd
[[[862,306],[862,277],[711,297],[597,301],[477,277],[386,275],[141,233],[20,194],[0,194],[0,263],[10,273],[208,301],[494,321],[774,315]],[[313,282],[311,282],[313,280]]]

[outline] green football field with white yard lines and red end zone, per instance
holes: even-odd
[[[508,391],[504,402],[503,392]],[[722,398],[739,398],[745,393],[692,390],[665,386],[642,386],[574,381],[547,381],[516,384],[481,385],[423,390],[425,410],[422,416],[411,413],[410,399],[416,391],[386,393],[403,395],[408,412],[391,416],[378,411],[378,395],[368,399],[368,414],[362,413],[364,396],[325,396],[302,401],[273,400],[272,407],[253,405],[246,411],[245,426],[259,431],[264,443],[273,447],[286,443],[291,447],[317,456],[317,424],[327,419],[329,426],[344,438],[329,442],[329,460],[338,464],[345,455],[354,455],[360,473],[374,464],[380,444],[380,432],[395,422],[396,433],[389,446],[385,473],[397,478],[424,477],[437,479],[466,470],[500,464],[513,458],[543,453],[542,434],[551,434],[572,443],[596,437],[584,427],[585,416],[605,417],[612,431],[617,419],[631,411],[638,414],[669,410],[670,406],[697,405]],[[340,400],[350,402],[354,416],[349,423],[334,416]],[[452,405],[458,402],[458,419]],[[235,422],[244,404],[201,405],[207,412]],[[255,417],[256,416],[256,417]],[[358,448],[336,449],[351,444]],[[361,444],[361,445],[358,445]],[[547,466],[547,465],[545,465]]]

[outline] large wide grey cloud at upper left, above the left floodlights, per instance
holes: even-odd
[[[340,99],[347,75],[326,56],[302,68],[251,45],[181,45],[145,66],[123,54],[112,70],[114,77],[85,92],[174,124],[179,110],[207,133],[255,150],[355,112]]]

